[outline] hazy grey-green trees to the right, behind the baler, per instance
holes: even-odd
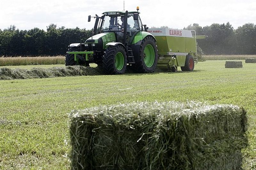
[[[193,24],[184,29],[196,30],[197,35],[206,35],[197,40],[205,54],[256,54],[256,25],[247,23],[234,29],[231,24],[212,24],[201,27]]]

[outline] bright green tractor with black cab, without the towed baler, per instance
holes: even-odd
[[[69,45],[66,66],[96,63],[107,74],[123,74],[127,66],[134,72],[154,72],[158,61],[156,38],[142,25],[137,11],[103,12],[96,18],[94,35],[84,43]]]

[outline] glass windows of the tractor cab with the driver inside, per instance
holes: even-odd
[[[140,30],[139,20],[133,19],[133,14],[129,14],[127,17],[127,31],[128,30]],[[104,23],[101,27],[101,31],[121,31],[124,30],[124,16],[105,16]]]

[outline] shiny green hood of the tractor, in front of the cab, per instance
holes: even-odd
[[[88,38],[85,43],[100,43],[103,42],[103,45],[108,42],[115,42],[116,36],[115,33],[100,33],[93,35],[92,37]]]

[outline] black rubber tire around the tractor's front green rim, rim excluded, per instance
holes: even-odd
[[[116,67],[116,57],[117,54],[122,53],[123,55],[123,67],[117,68]],[[125,49],[120,46],[112,46],[106,49],[104,55],[102,57],[102,67],[107,74],[123,74],[126,70],[127,66],[127,54]]]

